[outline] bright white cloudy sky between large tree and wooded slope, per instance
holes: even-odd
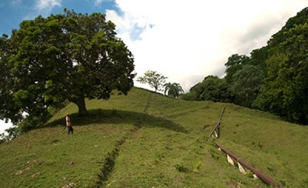
[[[156,70],[186,91],[210,74],[223,76],[230,55],[266,45],[308,5],[303,0],[115,2],[122,13],[108,10],[107,18],[134,54],[137,77]]]

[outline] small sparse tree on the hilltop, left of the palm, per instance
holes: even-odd
[[[137,82],[140,82],[142,84],[149,84],[150,87],[155,89],[156,91],[162,91],[162,87],[164,87],[164,83],[166,82],[166,79],[168,77],[165,77],[156,71],[153,70],[147,70],[144,73],[144,76],[138,77]]]

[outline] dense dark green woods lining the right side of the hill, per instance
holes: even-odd
[[[225,77],[208,76],[184,100],[230,102],[308,124],[308,8],[291,17],[250,57],[233,54]]]

